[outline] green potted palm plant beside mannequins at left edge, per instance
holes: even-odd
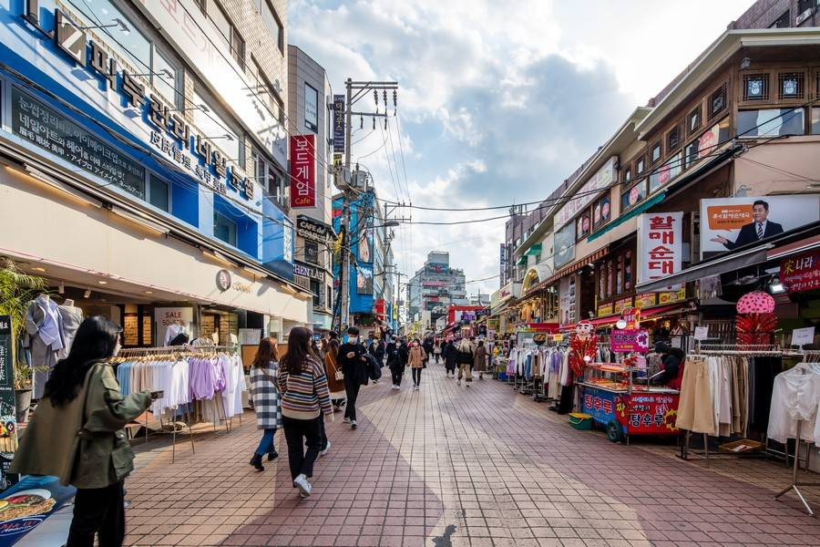
[[[32,370],[19,346],[28,303],[45,290],[46,281],[42,277],[24,274],[14,261],[0,258],[0,315],[11,317],[17,421],[21,423],[26,421],[31,405]]]

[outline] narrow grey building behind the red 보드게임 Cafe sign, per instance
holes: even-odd
[[[333,322],[333,93],[327,73],[297,46],[288,46],[288,127],[313,165],[306,202],[292,200],[296,226],[294,281],[313,294],[313,327],[328,331]],[[303,140],[307,137],[309,139]],[[291,158],[292,174],[301,163]]]

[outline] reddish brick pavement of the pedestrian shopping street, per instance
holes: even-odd
[[[409,376],[409,375],[407,375]],[[128,480],[131,545],[695,546],[817,545],[820,520],[794,496],[783,465],[720,460],[712,469],[673,447],[620,446],[485,379],[456,387],[440,366],[422,390],[360,395],[359,428],[339,414],[333,443],[300,500],[283,457],[248,465],[252,413],[230,434],[138,448]],[[647,441],[644,441],[647,442]],[[816,478],[816,477],[815,477]],[[808,490],[820,510],[820,490]]]

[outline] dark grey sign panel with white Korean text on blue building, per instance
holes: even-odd
[[[145,199],[145,169],[36,98],[12,88],[12,132],[120,190]]]

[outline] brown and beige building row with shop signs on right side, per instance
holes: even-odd
[[[606,327],[634,307],[654,335],[687,333],[695,322],[733,335],[733,301],[769,290],[773,256],[788,255],[773,249],[810,249],[820,219],[811,183],[820,172],[820,29],[805,24],[815,11],[753,5],[635,108],[544,212],[507,222],[507,275],[521,283],[505,308],[510,321]],[[552,263],[541,268],[550,240]],[[802,300],[777,297],[791,310],[784,327],[799,323]]]

